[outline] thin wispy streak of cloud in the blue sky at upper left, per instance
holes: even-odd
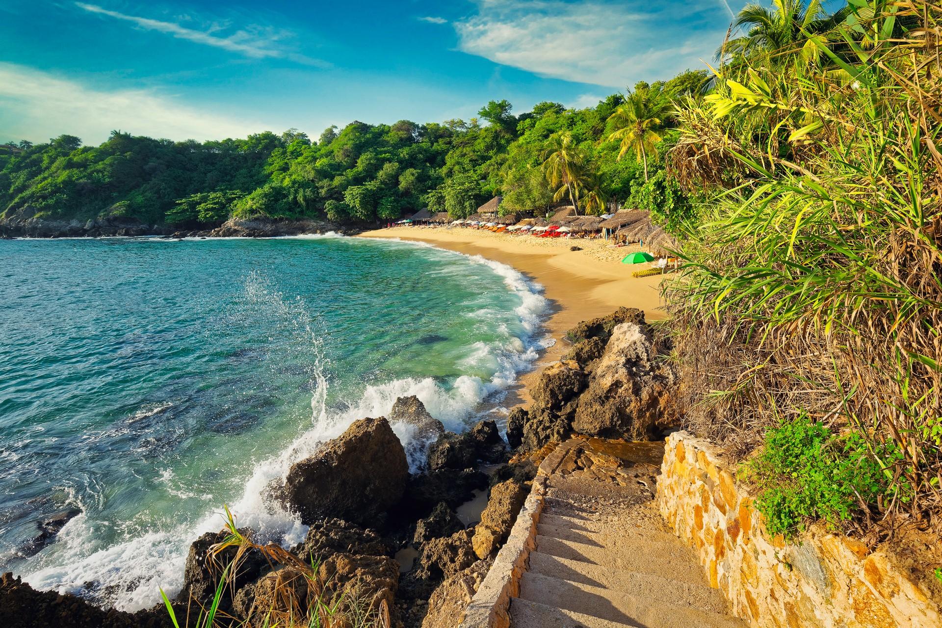
[[[222,50],[248,56],[249,58],[285,58],[304,65],[322,68],[330,67],[331,65],[324,60],[304,56],[296,51],[284,48],[280,42],[280,40],[283,40],[284,37],[288,35],[284,30],[252,26],[236,30],[230,35],[222,35],[221,31],[225,30],[225,28],[215,24],[208,26],[204,30],[199,30],[196,28],[188,28],[187,26],[175,22],[164,22],[138,15],[128,15],[98,5],[89,5],[84,2],[76,2],[75,6],[89,13],[103,15],[114,18],[115,20],[121,20],[122,22],[129,22],[138,26],[138,28],[165,33],[178,40],[187,40],[193,43],[221,48]]]

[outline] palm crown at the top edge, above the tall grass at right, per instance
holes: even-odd
[[[827,31],[840,23],[845,15],[841,9],[828,15],[820,0],[772,0],[774,8],[751,4],[742,8],[732,30],[742,29],[744,35],[723,43],[717,57],[735,58],[772,56],[803,50],[805,60],[817,59],[820,46],[828,39]]]

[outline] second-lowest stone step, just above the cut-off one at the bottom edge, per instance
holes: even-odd
[[[540,573],[525,572],[520,579],[521,600],[557,605],[626,625],[644,628],[746,628],[741,620],[690,606],[668,604],[649,597],[628,595]]]

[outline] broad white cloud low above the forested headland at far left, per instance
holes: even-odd
[[[216,111],[179,105],[143,89],[102,90],[33,68],[0,61],[0,141],[45,141],[63,133],[88,144],[112,129],[171,139],[246,137],[269,128],[258,121],[227,118]]]

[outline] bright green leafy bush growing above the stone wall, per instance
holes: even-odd
[[[891,458],[893,450],[878,454]],[[884,467],[860,434],[832,434],[806,415],[769,429],[744,470],[758,488],[755,507],[772,534],[791,536],[814,520],[837,528],[888,496]]]

